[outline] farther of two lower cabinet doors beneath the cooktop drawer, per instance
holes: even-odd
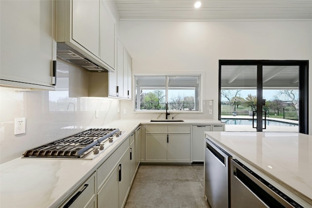
[[[120,163],[120,175],[121,178],[119,181],[119,208],[124,207],[126,203],[127,194],[130,189],[130,151],[126,151],[124,156],[122,157]]]

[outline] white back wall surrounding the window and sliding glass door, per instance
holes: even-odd
[[[214,100],[215,119],[219,59],[309,60],[310,68],[312,64],[312,21],[120,21],[119,35],[133,57],[133,74],[203,72],[203,99]],[[309,101],[312,132],[312,96]],[[129,101],[122,101],[121,107],[133,109]]]

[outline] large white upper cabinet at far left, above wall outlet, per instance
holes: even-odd
[[[53,11],[54,0],[0,1],[1,85],[55,89]]]

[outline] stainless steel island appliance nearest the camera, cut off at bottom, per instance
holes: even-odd
[[[236,159],[231,161],[231,208],[303,208]]]

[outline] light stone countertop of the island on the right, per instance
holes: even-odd
[[[293,132],[205,133],[303,207],[312,207],[312,136]]]

